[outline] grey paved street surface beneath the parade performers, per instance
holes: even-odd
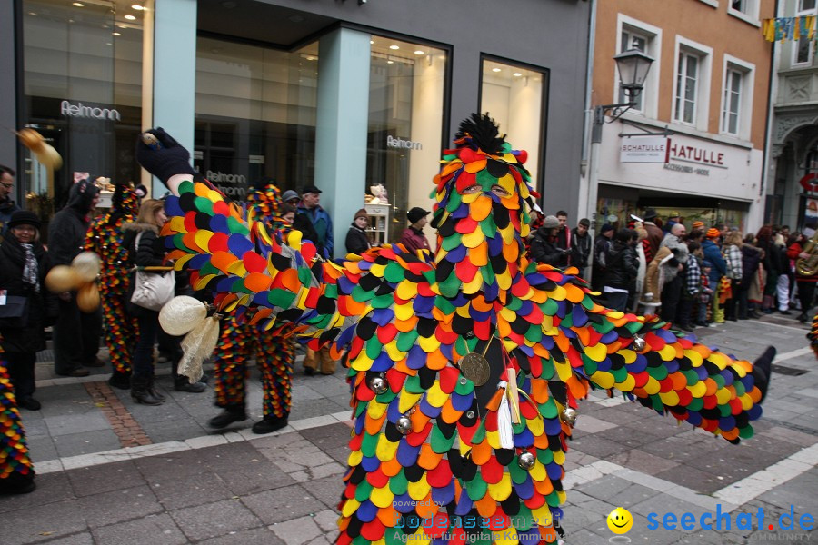
[[[818,362],[805,332],[778,314],[696,331],[750,360],[778,348],[763,419],[738,446],[604,392],[583,401],[565,466],[566,543],[818,543]],[[255,375],[252,419],[213,431],[213,392],[174,391],[166,365],[168,401],[147,407],[110,389],[110,370],[55,378],[41,356],[43,409],[23,411],[37,490],[0,497],[0,543],[334,541],[350,431],[343,371],[306,377],[296,365],[291,425],[259,436]],[[623,536],[605,521],[618,506],[633,515]]]

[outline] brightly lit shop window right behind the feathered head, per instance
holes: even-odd
[[[544,70],[484,58],[480,111],[500,125],[506,140],[528,152],[525,168],[534,187],[542,189],[540,150],[543,149],[544,95],[548,74]]]

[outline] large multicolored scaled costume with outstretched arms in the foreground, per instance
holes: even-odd
[[[165,149],[139,144],[140,163],[190,174],[180,146],[152,133]],[[277,243],[206,183],[182,182],[167,204],[170,257],[195,288],[223,308],[258,307],[258,320],[295,322],[335,357],[349,350],[354,430],[338,543],[424,532],[445,536],[436,543],[554,540],[568,409],[592,387],[730,441],[753,435],[763,371],[656,318],[605,309],[573,270],[529,263],[525,152],[476,114],[455,144],[435,177],[435,256],[387,245],[343,266],[314,262],[296,232],[292,247]],[[488,523],[468,523],[476,517]]]

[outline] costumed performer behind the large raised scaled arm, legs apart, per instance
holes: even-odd
[[[269,233],[281,242],[284,227],[281,191],[274,185],[247,195],[247,218],[264,223]],[[292,212],[292,208],[290,208]],[[224,428],[247,419],[245,386],[247,362],[255,360],[264,391],[264,418],[253,425],[254,433],[271,433],[287,425],[292,404],[291,386],[295,347],[286,334],[289,324],[275,324],[273,330],[251,323],[244,312],[235,312],[221,322],[219,342],[211,357],[214,364],[216,406],[224,409],[208,425]],[[282,331],[284,330],[284,331]]]

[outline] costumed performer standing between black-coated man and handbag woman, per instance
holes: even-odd
[[[108,384],[121,390],[131,387],[131,354],[136,344],[136,321],[125,310],[131,273],[128,249],[122,243],[122,224],[136,221],[139,197],[130,185],[117,183],[111,210],[97,218],[85,234],[85,250],[101,261],[99,295],[103,307],[105,346],[114,372]]]

